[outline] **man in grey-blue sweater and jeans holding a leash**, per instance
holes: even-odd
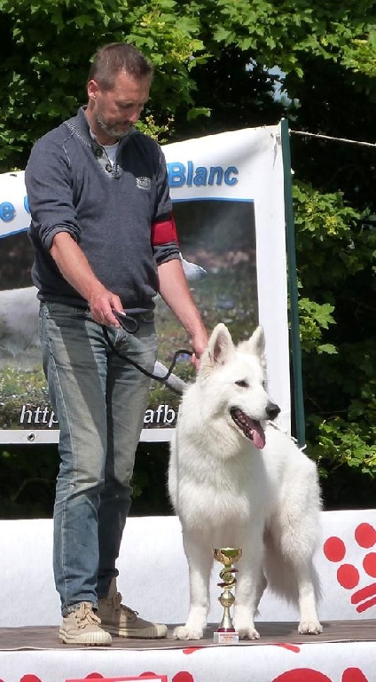
[[[190,335],[195,363],[207,344],[161,147],[133,128],[152,75],[131,45],[99,50],[87,107],[38,140],[25,173],[43,368],[60,426],[53,565],[68,644],[167,634],[121,605],[115,569],[150,385],[118,353],[153,370],[157,292]],[[143,311],[134,334],[114,315],[129,308]]]

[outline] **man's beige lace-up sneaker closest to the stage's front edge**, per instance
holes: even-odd
[[[64,644],[88,646],[110,646],[112,642],[111,635],[100,627],[100,618],[95,615],[90,601],[82,601],[75,611],[63,618],[59,639]]]

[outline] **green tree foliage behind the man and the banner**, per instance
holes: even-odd
[[[323,479],[374,490],[374,3],[0,0],[0,25],[0,171],[74,114],[91,55],[119,40],[156,67],[142,125],[162,141],[289,119],[309,452]]]

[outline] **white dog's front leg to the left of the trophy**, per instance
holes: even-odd
[[[198,538],[183,535],[184,551],[189,567],[190,610],[185,625],[174,630],[176,639],[200,639],[208,623],[210,607],[209,583],[213,555]]]

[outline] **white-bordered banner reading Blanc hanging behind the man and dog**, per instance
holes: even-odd
[[[290,428],[286,234],[280,125],[225,132],[163,147],[184,269],[211,331],[223,321],[234,340],[265,329],[270,394]],[[23,171],[0,175],[0,441],[56,442],[37,337],[33,258]],[[159,371],[184,329],[156,301]],[[179,362],[171,383],[191,380]],[[175,382],[175,384],[174,384]],[[141,440],[169,440],[179,398],[153,382]]]

